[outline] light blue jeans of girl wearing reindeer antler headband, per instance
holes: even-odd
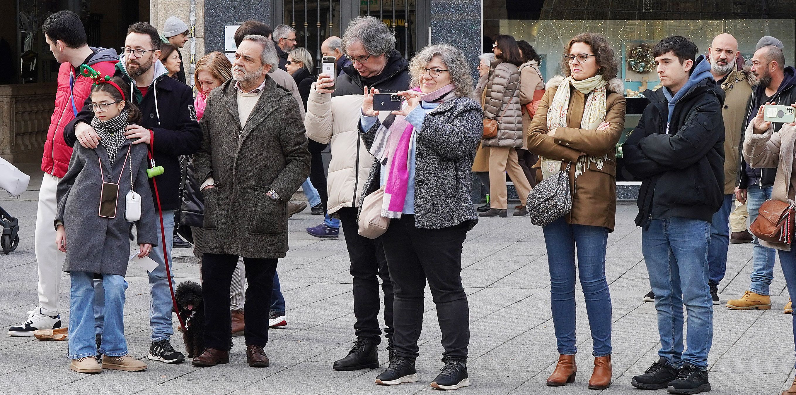
[[[69,358],[78,359],[98,354],[95,341],[94,274],[72,271],[69,290]],[[99,354],[111,357],[127,355],[124,339],[124,292],[127,281],[123,276],[103,274],[100,282],[104,293],[103,337]]]

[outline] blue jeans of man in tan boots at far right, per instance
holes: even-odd
[[[757,211],[767,199],[771,199],[771,190],[774,187],[759,188],[751,185],[747,189],[747,210],[749,211],[749,223],[755,222]],[[751,284],[749,290],[759,295],[768,295],[771,281],[774,280],[774,263],[776,261],[776,250],[762,246],[757,238],[751,247]]]

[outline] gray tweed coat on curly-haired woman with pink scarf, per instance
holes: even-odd
[[[395,118],[384,119],[390,124]],[[370,130],[361,130],[362,141],[370,149],[381,122]],[[415,226],[423,229],[453,227],[478,223],[470,200],[473,161],[478,141],[483,135],[481,105],[473,99],[448,100],[426,114],[423,126],[416,130],[415,147]],[[381,165],[373,160],[368,182],[360,199],[380,188]]]

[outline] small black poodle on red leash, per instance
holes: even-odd
[[[180,307],[178,314],[185,323],[182,341],[188,358],[196,358],[205,350],[205,307],[202,306],[201,285],[194,281],[182,281],[174,292]],[[232,350],[232,333],[229,349]]]

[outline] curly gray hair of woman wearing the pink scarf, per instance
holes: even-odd
[[[426,71],[423,70],[434,59],[439,56],[442,60],[447,73],[451,75],[451,83],[456,87],[455,94],[459,97],[470,97],[473,93],[473,77],[470,76],[470,65],[464,57],[464,52],[453,45],[436,44],[429,45],[409,62],[409,74],[412,79],[409,87],[417,87],[420,84],[420,76]]]

